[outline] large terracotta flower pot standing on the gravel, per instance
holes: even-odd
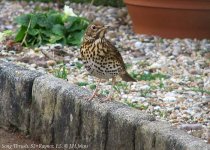
[[[134,31],[166,38],[210,38],[210,0],[124,0]]]

